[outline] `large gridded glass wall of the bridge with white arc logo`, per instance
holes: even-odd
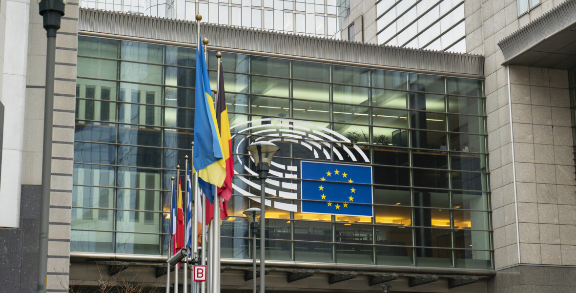
[[[223,52],[234,196],[222,257],[250,259],[245,146],[281,147],[266,257],[493,268],[484,82]],[[215,52],[209,70],[215,88]],[[194,48],[79,36],[71,251],[166,254],[170,177],[190,156]],[[303,213],[301,161],[372,167],[373,217]],[[184,178],[183,178],[184,179]]]

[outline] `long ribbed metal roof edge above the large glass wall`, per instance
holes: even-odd
[[[79,9],[78,30],[195,44],[196,22],[96,9]],[[446,74],[483,76],[481,55],[420,50],[279,33],[261,29],[202,23],[210,44],[286,57],[305,57],[413,69]]]

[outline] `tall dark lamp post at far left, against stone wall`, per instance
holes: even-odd
[[[46,292],[48,271],[48,221],[50,220],[50,176],[52,169],[52,121],[54,120],[54,66],[56,31],[64,16],[67,0],[39,0],[38,8],[46,29],[46,89],[44,91],[44,139],[42,151],[42,189],[40,197],[40,236],[37,292]]]

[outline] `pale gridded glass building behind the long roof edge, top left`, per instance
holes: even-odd
[[[339,38],[345,7],[337,0],[81,0],[86,8],[145,14],[309,36]]]

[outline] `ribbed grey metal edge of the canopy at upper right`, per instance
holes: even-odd
[[[503,64],[507,64],[510,59],[535,47],[548,36],[561,31],[574,22],[576,22],[576,0],[560,3],[554,9],[498,42],[498,47],[501,48],[505,59]]]

